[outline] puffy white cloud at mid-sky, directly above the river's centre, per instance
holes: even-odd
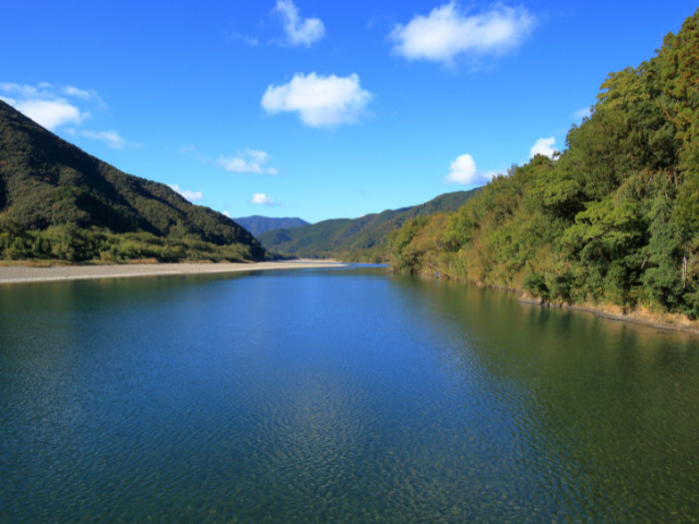
[[[313,128],[332,128],[356,122],[363,115],[371,93],[359,86],[359,76],[323,76],[297,73],[284,85],[270,85],[262,96],[269,114],[298,112],[301,121]]]

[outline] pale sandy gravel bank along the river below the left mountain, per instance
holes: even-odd
[[[241,271],[293,270],[310,267],[339,267],[344,264],[327,260],[291,260],[283,262],[236,263],[173,263],[173,264],[114,264],[114,265],[57,265],[29,267],[0,266],[0,285],[58,281],[86,281],[94,278],[128,278],[137,276],[194,275],[205,273],[236,273]]]

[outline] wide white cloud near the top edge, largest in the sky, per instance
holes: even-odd
[[[535,17],[523,8],[496,4],[489,11],[467,14],[457,1],[416,15],[398,25],[389,37],[393,51],[410,60],[451,63],[459,55],[471,58],[505,55],[531,34]]]

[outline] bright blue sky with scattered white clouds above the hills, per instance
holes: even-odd
[[[0,97],[230,216],[357,217],[565,147],[696,2],[5,2]]]

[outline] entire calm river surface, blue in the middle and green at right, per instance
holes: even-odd
[[[381,269],[0,288],[2,522],[691,522],[699,344]]]

